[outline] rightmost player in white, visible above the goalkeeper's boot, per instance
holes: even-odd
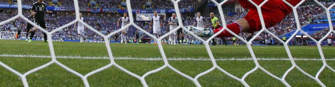
[[[197,17],[194,18],[193,26],[197,24],[197,28],[206,28],[208,21],[201,16],[200,12],[197,13]]]

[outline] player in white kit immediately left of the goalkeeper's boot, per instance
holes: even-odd
[[[170,32],[177,28],[178,19],[176,14],[173,13],[172,17],[169,18]],[[173,35],[170,34],[169,42],[170,44],[176,44],[177,31],[173,32]]]

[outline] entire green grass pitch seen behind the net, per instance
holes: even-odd
[[[80,57],[107,57],[105,43],[79,43],[79,42],[53,42],[56,56],[80,56]],[[131,58],[161,58],[157,45],[153,44],[110,44],[114,57]],[[204,45],[168,45],[163,44],[167,58],[207,58],[209,55]],[[257,58],[286,58],[288,55],[283,46],[252,46]],[[238,46],[210,46],[215,59],[244,59],[251,58],[246,45]],[[321,59],[316,46],[289,46],[290,52],[297,59]],[[335,68],[335,47],[322,46],[322,51],[327,64]],[[0,55],[44,55],[50,56],[48,43],[41,41],[0,40]],[[67,67],[85,75],[93,70],[110,64],[109,59],[70,59],[57,58]],[[51,61],[51,58],[34,57],[8,57],[0,56],[0,61],[20,73],[39,67]],[[148,71],[164,65],[162,60],[124,60],[116,59],[115,62],[125,69],[142,76]],[[259,60],[260,65],[278,76],[279,78],[292,65],[289,60]],[[307,73],[315,76],[323,63],[320,60],[296,60],[296,64]],[[242,76],[255,67],[252,60],[226,60],[216,61],[219,67],[242,78]],[[169,60],[169,64],[177,70],[195,77],[196,75],[213,67],[211,61],[205,60]],[[91,87],[141,87],[141,82],[127,73],[112,66],[102,72],[89,76]],[[329,87],[335,86],[335,73],[325,68],[319,79]],[[150,74],[145,78],[150,87],[194,87],[189,79],[177,74],[169,68]],[[304,75],[297,69],[293,69],[285,79],[291,86],[318,87],[316,81]],[[80,77],[66,71],[57,64],[52,64],[44,69],[29,74],[27,81],[30,87],[83,87]],[[214,71],[200,77],[199,83],[203,87],[231,87],[243,86],[239,81],[230,78],[221,71]],[[252,87],[282,87],[279,80],[272,78],[260,69],[247,76],[245,81]],[[0,87],[22,87],[20,78],[4,67],[0,66]]]

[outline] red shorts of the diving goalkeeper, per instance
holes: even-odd
[[[252,0],[257,5],[260,5],[264,0]],[[286,0],[292,6],[297,5],[301,0]],[[247,0],[239,0],[243,8],[249,9],[248,14],[244,17],[250,25],[249,32],[255,32],[262,29],[262,24],[258,15],[257,8]],[[292,8],[281,0],[269,0],[262,7],[262,14],[265,23],[265,28],[272,27],[284,19],[286,15],[291,13]]]

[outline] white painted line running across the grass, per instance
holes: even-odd
[[[11,55],[11,54],[1,54],[0,57],[31,57],[31,58],[51,58],[51,56],[46,55]],[[108,57],[81,57],[81,56],[56,56],[56,58],[62,59],[109,59]],[[133,58],[133,57],[115,57],[116,60],[147,60],[147,61],[157,61],[162,60],[162,58]],[[174,61],[210,61],[209,58],[168,58],[167,60]],[[216,61],[248,61],[253,60],[252,58],[218,58]],[[288,58],[257,58],[257,60],[289,60]],[[307,58],[294,58],[294,60],[303,61],[321,61],[321,59],[307,59]],[[326,59],[327,61],[335,61],[333,59]]]

